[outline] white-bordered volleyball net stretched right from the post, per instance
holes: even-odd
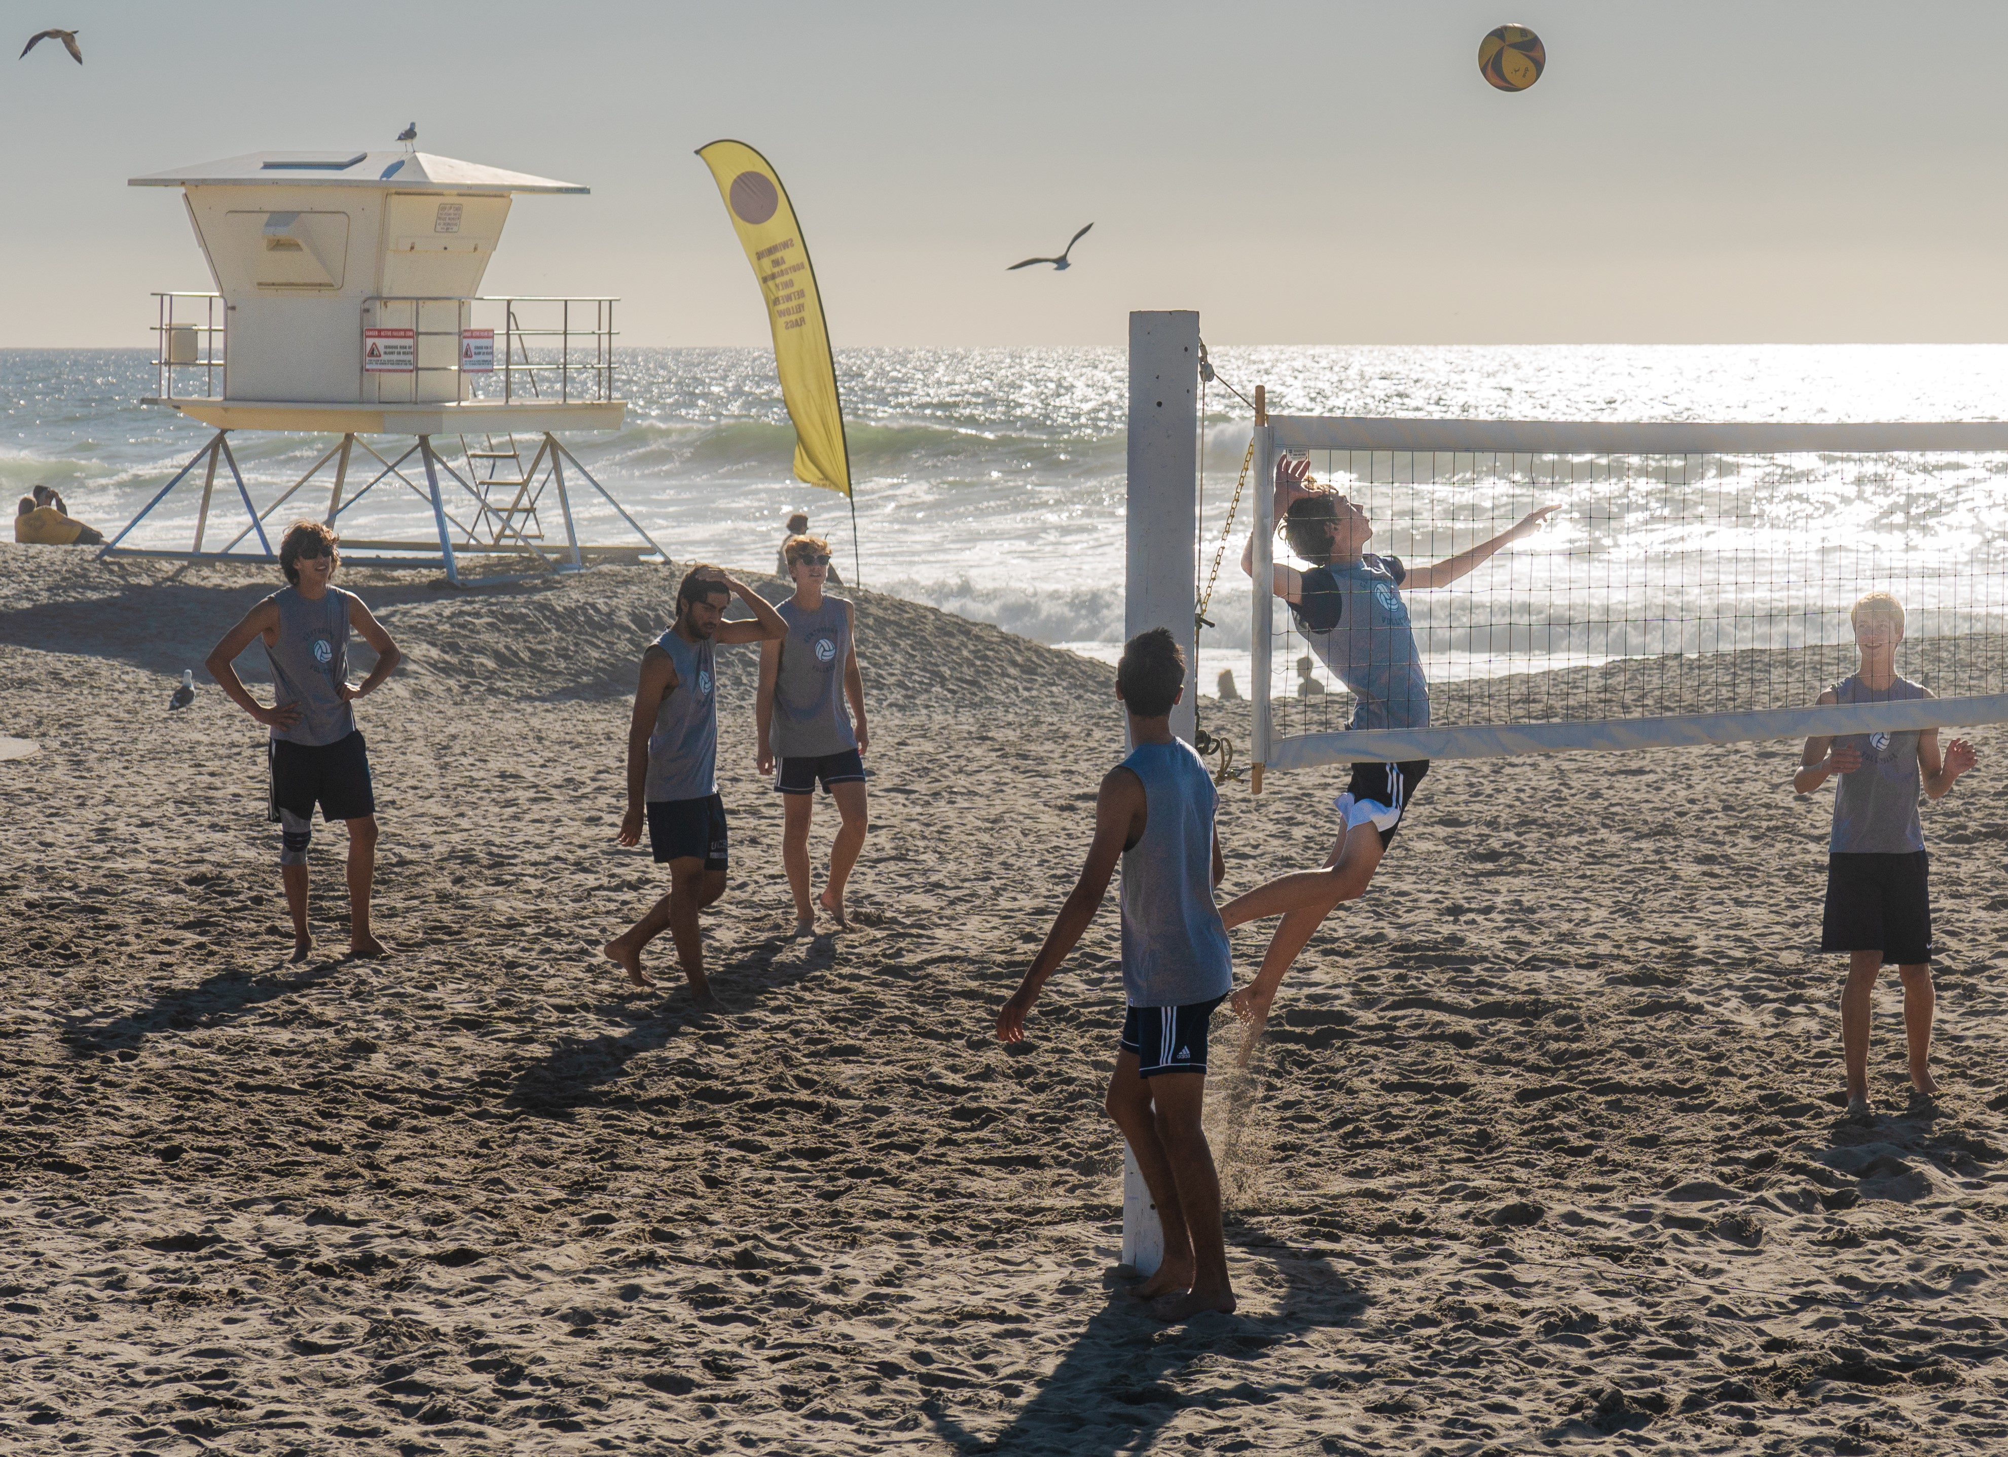
[[[1347,730],[1347,685],[1291,607],[1257,589],[1257,766],[2008,721],[2008,422],[1271,414],[1249,474],[1257,585],[1271,565],[1311,567],[1275,533],[1285,454],[1365,508],[1367,553],[1410,571],[1556,510],[1456,583],[1402,589],[1428,727]],[[1849,609],[1871,591],[1904,605],[1896,669],[1936,697],[1815,707],[1855,667]]]

